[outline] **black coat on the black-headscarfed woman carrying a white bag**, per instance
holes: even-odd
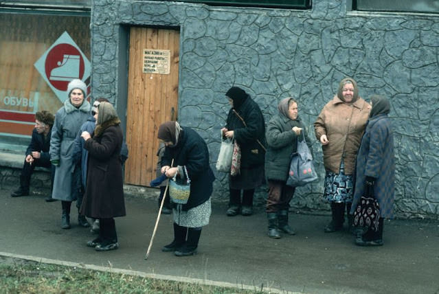
[[[247,96],[247,99],[238,108],[236,112],[243,117],[245,126],[239,117],[230,109],[227,115],[226,128],[234,131],[234,139],[241,148],[241,168],[256,168],[264,164],[265,151],[256,142],[267,146],[265,141],[265,122],[262,112],[256,102]]]

